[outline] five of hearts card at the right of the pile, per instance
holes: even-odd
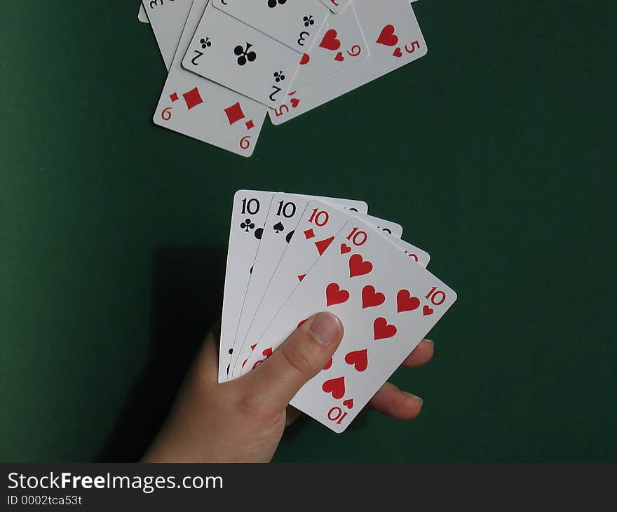
[[[426,55],[426,43],[408,0],[354,0],[353,8],[369,58],[303,90],[292,88],[269,112],[273,124],[293,119]]]

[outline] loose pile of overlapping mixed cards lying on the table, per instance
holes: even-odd
[[[426,55],[409,0],[142,0],[140,19],[168,68],[154,123],[243,156],[266,114],[284,123]]]

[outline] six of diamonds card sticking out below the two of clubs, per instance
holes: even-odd
[[[207,3],[208,0],[194,0],[156,107],[154,123],[227,151],[250,156],[266,118],[266,107],[182,68],[182,56]]]

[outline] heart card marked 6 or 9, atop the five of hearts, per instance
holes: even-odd
[[[292,90],[304,89],[367,58],[367,43],[350,4],[340,14],[328,18],[316,44],[301,58]]]

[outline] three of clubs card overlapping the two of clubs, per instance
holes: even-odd
[[[313,46],[330,14],[320,0],[212,0],[212,4],[300,53]]]

